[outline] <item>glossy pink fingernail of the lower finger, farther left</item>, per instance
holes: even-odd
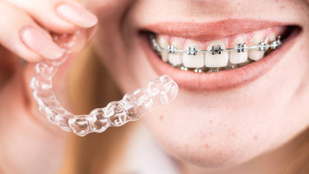
[[[58,59],[63,56],[63,50],[42,31],[24,26],[20,30],[20,38],[24,44],[37,54],[47,59]]]

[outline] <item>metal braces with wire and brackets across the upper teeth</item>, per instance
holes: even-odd
[[[258,51],[266,51],[269,48],[275,50],[282,43],[281,36],[279,35],[277,39],[271,41],[270,44],[268,44],[267,42],[267,37],[264,37],[263,42],[260,42],[257,46],[250,46],[250,47],[246,46],[245,43],[239,43],[235,48],[230,49],[223,49],[221,45],[212,46],[210,50],[198,50],[195,46],[187,46],[185,50],[179,50],[175,46],[168,46],[166,49],[164,49],[159,45],[155,35],[153,34],[150,34],[150,42],[152,43],[153,48],[158,52],[168,52],[169,54],[186,53],[187,55],[197,55],[198,53],[210,53],[212,55],[217,55],[230,51],[236,51],[240,53],[253,49]]]

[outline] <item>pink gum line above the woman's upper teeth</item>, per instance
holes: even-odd
[[[269,37],[270,34],[274,33],[275,36],[281,35],[282,33],[284,33],[284,31],[286,30],[286,26],[278,26],[278,27],[271,27],[271,28],[266,28],[263,30],[258,30],[258,31],[251,31],[251,32],[246,32],[246,33],[241,33],[241,34],[236,34],[236,35],[232,35],[232,36],[228,36],[228,37],[224,37],[220,40],[222,40],[224,42],[224,45],[226,48],[234,48],[234,41],[237,37],[241,37],[244,39],[244,42],[246,43],[246,45],[251,46],[251,39],[255,34],[258,33],[262,33],[262,35],[265,37]],[[214,41],[214,40],[192,40],[192,39],[187,39],[184,37],[177,37],[177,36],[172,36],[172,35],[166,35],[166,34],[158,34],[157,38],[159,37],[163,37],[164,39],[166,39],[169,43],[169,45],[171,45],[172,41],[177,43],[177,47],[178,49],[184,49],[186,46],[186,43],[194,41],[195,43],[197,43],[197,48],[198,49],[202,49],[202,50],[206,50],[207,47],[209,46],[209,44]],[[269,40],[272,41],[272,40]]]

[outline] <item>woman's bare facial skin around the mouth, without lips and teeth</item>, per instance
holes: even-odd
[[[113,10],[109,10],[111,15],[106,14],[105,3],[89,3],[99,20],[105,21],[99,23],[96,47],[106,65],[118,67],[117,73],[113,73],[115,68],[110,71],[124,93],[158,76],[138,47],[138,30],[145,25],[192,20],[203,23],[249,15],[252,19],[292,22],[302,27],[297,42],[262,77],[224,91],[193,93],[180,89],[176,101],[143,118],[166,152],[186,167],[240,165],[277,149],[308,126],[309,66],[304,48],[309,42],[309,6],[305,1],[110,2],[119,11],[126,9],[126,16]],[[222,8],[222,4],[228,8]],[[220,12],[213,6],[220,7]],[[117,25],[106,26],[106,21]],[[117,46],[121,52],[109,46]]]

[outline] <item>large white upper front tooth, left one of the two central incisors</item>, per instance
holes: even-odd
[[[198,45],[195,42],[189,42],[187,46],[198,48]],[[182,57],[183,66],[187,68],[201,68],[204,66],[205,58],[203,53],[197,53],[196,55],[187,55],[186,53],[183,53]]]

